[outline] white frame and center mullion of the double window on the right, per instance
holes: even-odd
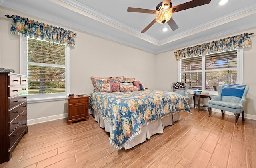
[[[223,51],[225,52],[225,51]],[[222,53],[222,52],[218,52],[218,53]],[[216,53],[216,54],[218,54]],[[205,69],[205,55],[202,55],[202,92],[209,92],[210,94],[217,94],[216,90],[205,90],[205,72],[207,71],[211,71],[211,70],[206,70]],[[186,59],[186,58],[185,58]],[[237,49],[237,80],[236,83],[238,84],[243,84],[243,64],[244,64],[244,50],[243,49]],[[177,81],[181,82],[181,63],[182,63],[182,59],[178,60],[178,79]],[[193,93],[193,89],[188,89],[189,93]]]

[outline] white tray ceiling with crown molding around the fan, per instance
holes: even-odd
[[[176,6],[188,1],[171,2]],[[155,23],[140,33],[154,20],[155,14],[127,12],[127,8],[155,10],[160,2],[1,0],[0,5],[155,54],[256,27],[256,0],[229,0],[224,6],[218,5],[219,0],[212,0],[210,4],[175,12],[172,18],[179,27],[175,31],[167,23]],[[163,32],[164,27],[168,31]]]

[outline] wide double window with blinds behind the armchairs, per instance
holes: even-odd
[[[185,58],[179,61],[179,80],[189,89],[216,91],[220,84],[242,84],[243,50]]]

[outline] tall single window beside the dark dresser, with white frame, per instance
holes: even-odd
[[[28,99],[60,98],[68,93],[69,47],[21,37],[23,74],[28,75]]]

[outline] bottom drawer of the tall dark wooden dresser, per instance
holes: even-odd
[[[18,127],[16,127],[16,129],[14,129],[14,131],[9,135],[9,148],[12,147],[12,145],[16,142],[16,140],[22,136],[22,132],[24,131],[24,129],[26,129],[27,127],[27,117],[22,121],[22,123],[20,123],[20,125]]]

